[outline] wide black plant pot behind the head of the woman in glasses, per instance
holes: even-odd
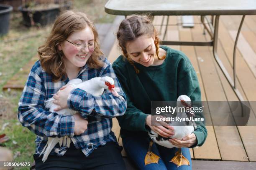
[[[67,4],[62,7],[62,9],[69,9],[70,5]],[[49,23],[53,23],[57,16],[60,14],[60,7],[52,7],[49,9],[42,9],[42,10],[29,10],[27,8],[22,8],[20,6],[18,8],[23,16],[23,23],[24,25],[31,27],[31,19],[36,25],[45,26]]]

